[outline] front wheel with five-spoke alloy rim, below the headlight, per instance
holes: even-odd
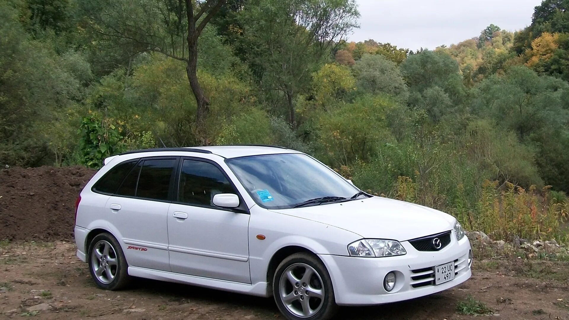
[[[328,320],[337,310],[328,270],[308,253],[295,253],[279,264],[273,277],[273,296],[288,320]]]

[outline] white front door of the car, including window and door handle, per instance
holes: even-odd
[[[251,283],[245,211],[218,208],[216,194],[237,194],[214,162],[183,158],[178,201],[168,210],[172,272]]]

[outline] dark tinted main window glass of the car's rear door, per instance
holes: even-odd
[[[145,160],[138,178],[136,196],[168,200],[170,179],[175,165],[176,159]]]

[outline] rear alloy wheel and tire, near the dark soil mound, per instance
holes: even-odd
[[[131,280],[121,245],[110,233],[100,233],[91,240],[88,262],[91,277],[101,289],[120,290]]]

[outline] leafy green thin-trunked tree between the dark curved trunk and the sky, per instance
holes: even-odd
[[[296,123],[295,96],[332,48],[357,26],[354,0],[255,0],[241,13],[246,59],[264,91],[282,94]]]

